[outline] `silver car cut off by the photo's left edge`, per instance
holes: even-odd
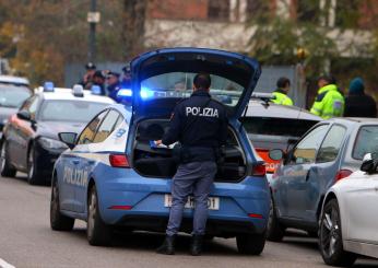
[[[10,115],[15,114],[32,94],[26,79],[0,75],[0,139]]]

